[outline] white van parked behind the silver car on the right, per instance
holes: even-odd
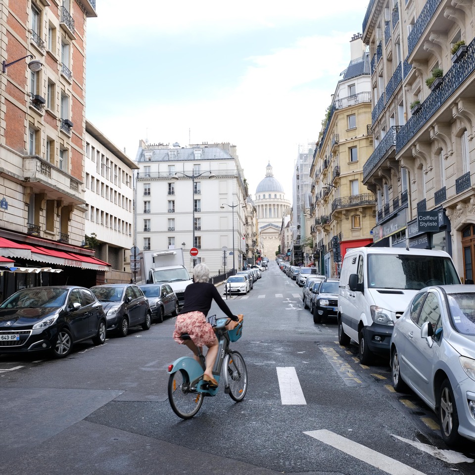
[[[427,285],[461,284],[449,254],[429,249],[359,247],[345,254],[338,287],[338,342],[359,344],[360,362],[389,358],[397,318]]]

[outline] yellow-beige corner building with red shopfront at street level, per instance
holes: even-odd
[[[363,184],[363,166],[373,150],[370,62],[361,35],[350,48],[310,170],[314,259],[328,277],[339,276],[347,249],[373,241],[375,225],[375,196]]]

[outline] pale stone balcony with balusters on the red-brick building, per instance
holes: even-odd
[[[23,157],[23,179],[34,193],[47,194],[47,199],[86,204],[80,182],[38,155]]]

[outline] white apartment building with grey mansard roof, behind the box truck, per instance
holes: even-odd
[[[211,276],[240,269],[246,261],[247,191],[236,147],[140,141],[136,162],[139,249],[181,247],[189,271],[204,262]]]

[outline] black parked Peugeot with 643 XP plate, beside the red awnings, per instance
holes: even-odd
[[[28,287],[0,305],[0,354],[46,350],[65,358],[79,341],[104,343],[106,328],[102,305],[89,289]]]

